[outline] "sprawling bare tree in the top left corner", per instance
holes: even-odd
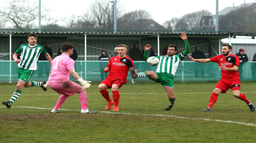
[[[6,7],[0,10],[0,18],[3,22],[10,22],[15,28],[32,28],[34,20],[38,19],[38,3],[31,3],[28,0],[13,0],[5,2]],[[49,11],[44,9],[45,11]],[[41,17],[45,16],[41,14]]]

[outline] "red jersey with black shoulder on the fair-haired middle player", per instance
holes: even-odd
[[[125,56],[124,58],[120,58],[119,56],[116,56],[116,57],[110,58],[106,67],[110,69],[107,78],[120,79],[125,84],[127,82],[126,78],[127,78],[129,69],[131,67],[134,68],[134,62],[131,58],[127,56]]]

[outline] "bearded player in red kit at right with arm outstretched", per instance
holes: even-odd
[[[228,89],[232,89],[232,94],[234,97],[243,100],[248,104],[250,110],[254,111],[254,105],[251,100],[248,100],[244,94],[240,93],[240,77],[238,74],[239,58],[236,55],[231,54],[232,47],[228,44],[222,44],[222,55],[215,56],[210,59],[194,59],[188,56],[191,61],[196,62],[216,62],[221,69],[221,79],[216,84],[215,89],[212,92],[212,96],[209,100],[209,105],[207,108],[201,111],[212,111],[213,104],[217,101],[218,95],[220,93],[226,93]]]

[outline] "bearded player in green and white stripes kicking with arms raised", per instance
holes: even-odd
[[[161,83],[170,101],[170,104],[165,108],[165,110],[170,110],[174,105],[176,98],[174,97],[173,75],[175,75],[175,72],[178,68],[180,61],[183,60],[189,52],[187,35],[183,32],[181,32],[180,34],[181,34],[180,35],[181,39],[183,39],[185,42],[185,47],[186,47],[185,51],[183,51],[181,54],[176,54],[178,52],[177,46],[170,44],[168,46],[167,55],[157,56],[160,62],[158,64],[156,72],[145,71],[145,72],[138,73],[137,75],[134,74],[134,76],[132,76],[132,78],[134,79],[137,77],[148,76],[149,79],[155,82]],[[150,48],[151,46],[148,44],[144,48],[144,61],[147,61],[147,59],[149,58],[148,50]]]

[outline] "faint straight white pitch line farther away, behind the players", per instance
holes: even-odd
[[[232,93],[232,92],[227,92],[227,93]],[[240,93],[256,93],[256,91],[253,92],[240,92]],[[113,93],[109,93],[113,94]],[[120,94],[166,94],[166,93],[120,93]],[[211,94],[212,92],[193,92],[193,93],[174,93],[174,94]],[[60,95],[60,94],[20,94],[22,96],[30,96],[30,95]],[[87,93],[87,95],[100,95],[100,93]],[[0,95],[0,96],[12,96],[11,94],[7,95]]]

